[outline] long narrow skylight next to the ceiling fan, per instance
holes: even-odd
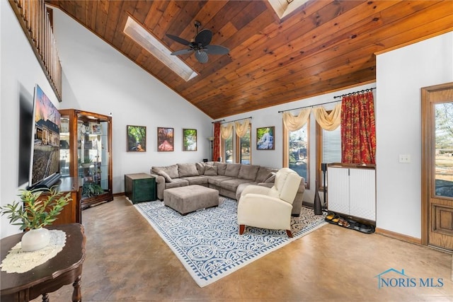
[[[168,50],[159,40],[151,35],[146,28],[137,23],[130,16],[127,17],[124,33],[132,40],[137,42],[145,50],[151,53],[156,59],[166,64],[168,68],[175,71],[178,76],[185,81],[195,78],[198,74],[193,71],[183,60],[171,55],[171,50]]]

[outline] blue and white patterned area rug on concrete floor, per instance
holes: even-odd
[[[293,217],[293,238],[286,232],[246,227],[239,235],[237,202],[219,197],[219,207],[181,216],[164,202],[142,202],[134,207],[149,221],[200,287],[248,265],[293,240],[325,225],[324,216],[302,207]]]

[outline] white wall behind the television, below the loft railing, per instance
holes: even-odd
[[[18,200],[19,103],[33,107],[35,84],[59,108],[58,100],[8,1],[0,1],[0,204]],[[18,233],[1,217],[1,238]]]

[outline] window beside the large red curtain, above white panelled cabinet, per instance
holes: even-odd
[[[320,190],[323,190],[324,174],[321,163],[341,163],[341,126],[327,131],[316,123],[316,146],[316,180]]]

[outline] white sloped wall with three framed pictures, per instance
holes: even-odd
[[[124,192],[127,173],[210,158],[210,117],[58,9],[54,32],[64,74],[60,108],[112,113],[114,193]],[[147,127],[146,152],[126,151],[128,124]],[[174,129],[175,151],[156,151],[157,127]],[[197,129],[197,151],[182,151],[183,128]]]

